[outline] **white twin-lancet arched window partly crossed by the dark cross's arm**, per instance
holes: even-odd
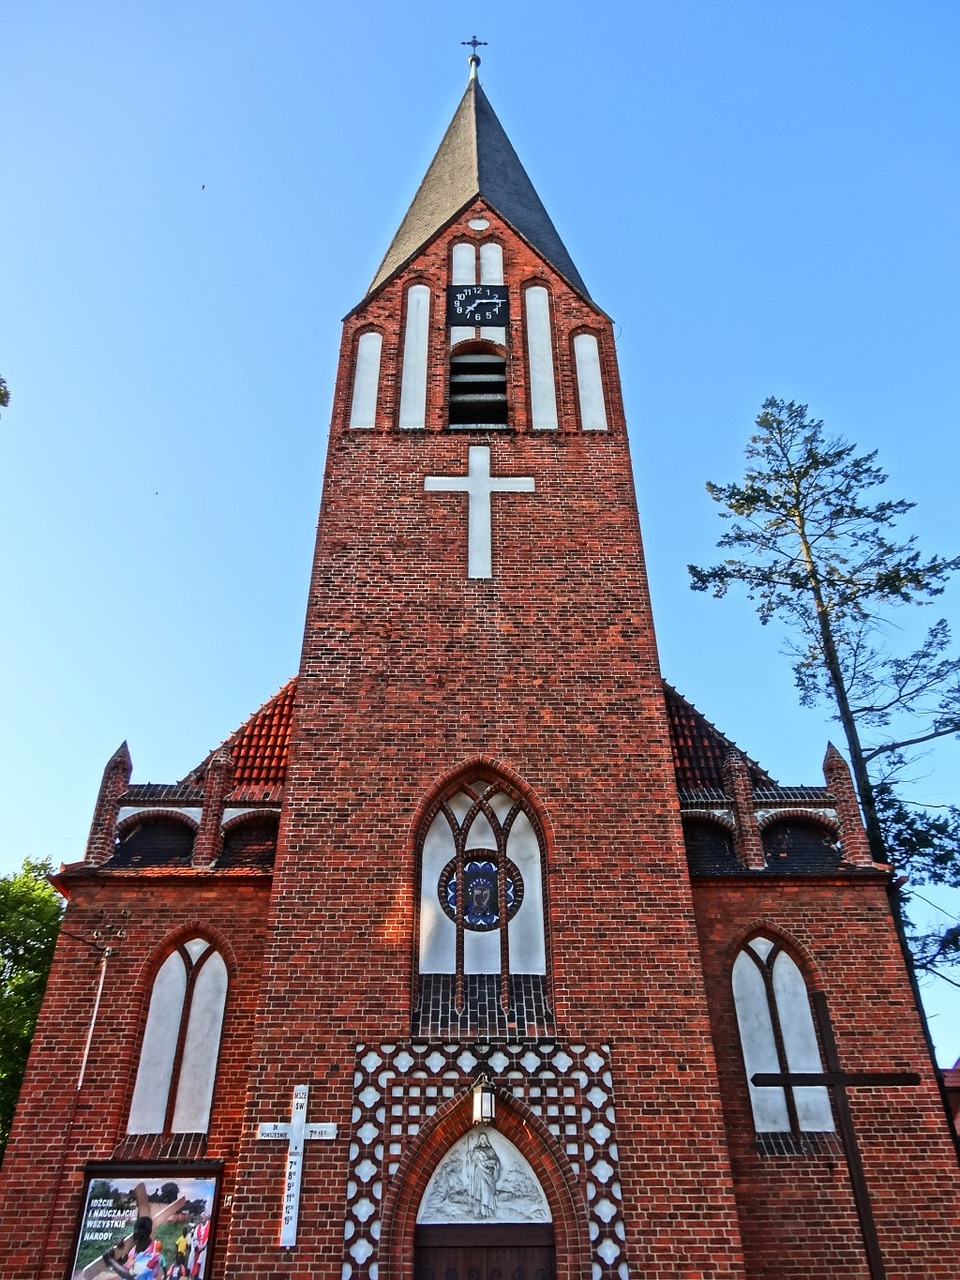
[[[778,942],[760,936],[737,952],[733,1002],[756,1133],[832,1132],[833,1112],[823,1085],[781,1088],[750,1083],[758,1071],[823,1070],[804,975]]]

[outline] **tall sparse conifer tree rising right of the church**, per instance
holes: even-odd
[[[960,810],[902,796],[910,753],[960,733],[960,657],[945,620],[906,654],[888,648],[891,612],[941,595],[960,557],[924,557],[896,525],[914,506],[882,497],[877,453],[831,436],[805,404],[768,399],[739,484],[708,483],[731,521],[719,564],[689,566],[696,591],[741,586],[760,622],[788,630],[800,700],[832,701],[877,860],[915,881],[960,886]],[[960,929],[914,934],[920,966],[960,959]]]

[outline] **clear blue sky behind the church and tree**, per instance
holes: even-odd
[[[957,550],[956,5],[453,8],[8,6],[0,870],[81,856],[122,740],[136,780],[173,781],[296,671],[339,320],[475,24],[617,323],[667,678],[781,781],[819,781],[837,731],[797,707],[782,636],[686,585],[721,532],[704,480],[741,474],[767,396],[878,448],[908,531]],[[957,754],[918,796],[956,799]],[[960,1005],[928,1002],[952,1062]]]

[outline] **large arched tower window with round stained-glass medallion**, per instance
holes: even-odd
[[[521,797],[460,782],[420,837],[420,1033],[503,1033],[550,1021],[543,840]]]

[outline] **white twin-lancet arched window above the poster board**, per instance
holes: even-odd
[[[206,938],[177,946],[154,979],[127,1133],[206,1133],[227,965]]]

